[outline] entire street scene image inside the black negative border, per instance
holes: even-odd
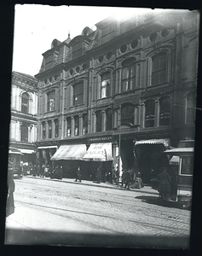
[[[190,248],[199,18],[15,6],[6,245]]]

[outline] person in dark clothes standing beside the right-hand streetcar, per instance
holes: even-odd
[[[166,167],[162,168],[163,172],[158,175],[159,195],[163,200],[168,200],[170,195],[170,175],[166,172]]]

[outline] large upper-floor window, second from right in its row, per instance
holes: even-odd
[[[134,90],[136,87],[136,59],[123,61],[121,91]]]

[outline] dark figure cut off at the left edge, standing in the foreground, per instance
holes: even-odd
[[[7,181],[7,202],[6,202],[6,216],[14,213],[14,177],[12,162],[9,161],[8,181]]]

